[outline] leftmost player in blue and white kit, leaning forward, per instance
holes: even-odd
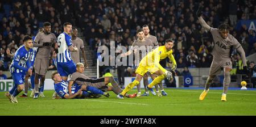
[[[5,95],[12,103],[18,103],[16,96],[24,89],[26,73],[32,74],[32,66],[30,63],[30,58],[33,53],[32,47],[32,38],[30,36],[24,36],[23,45],[16,50],[13,62],[11,62],[10,72],[15,86],[9,92],[6,92]]]

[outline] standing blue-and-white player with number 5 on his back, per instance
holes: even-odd
[[[68,75],[75,73],[76,65],[71,58],[71,52],[77,52],[76,46],[72,46],[71,36],[71,23],[63,24],[64,32],[57,37],[58,52],[57,52],[57,71],[60,73],[61,78],[67,81]]]

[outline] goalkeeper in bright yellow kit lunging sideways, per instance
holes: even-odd
[[[172,46],[174,46],[174,41],[167,39],[163,46],[159,46],[158,48],[152,50],[152,52],[148,53],[147,56],[142,58],[141,62],[139,62],[137,70],[135,71],[135,80],[128,84],[128,86],[125,87],[121,94],[117,95],[117,98],[123,99],[123,96],[127,92],[129,92],[134,86],[137,86],[137,84],[141,82],[143,75],[146,74],[147,71],[151,74],[159,75],[150,84],[148,84],[147,88],[150,91],[153,91],[152,87],[155,86],[155,84],[161,82],[164,78],[167,78],[168,80],[172,79],[172,73],[164,69],[159,64],[160,60],[169,57],[169,59],[172,61],[172,70],[176,69],[177,64],[174,56],[172,55]]]

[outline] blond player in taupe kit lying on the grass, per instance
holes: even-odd
[[[68,84],[68,91],[71,93],[72,85],[74,83],[80,86],[87,86],[87,87],[96,87],[102,91],[113,91],[115,94],[120,94],[122,89],[118,86],[117,82],[115,82],[114,77],[102,77],[102,78],[89,78],[84,73],[84,64],[77,63],[76,64],[76,72],[72,74],[71,79]],[[112,86],[108,86],[108,83],[112,83]],[[136,97],[135,94],[126,95],[127,98],[134,98]]]

